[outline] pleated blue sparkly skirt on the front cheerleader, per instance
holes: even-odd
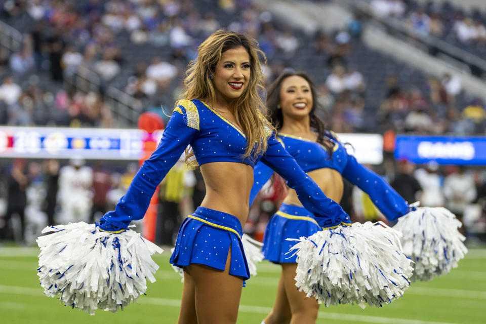
[[[170,263],[184,267],[204,264],[224,270],[231,250],[229,274],[250,278],[247,258],[241,243],[243,228],[233,215],[198,207],[179,228]]]

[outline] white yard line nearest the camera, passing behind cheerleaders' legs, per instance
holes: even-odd
[[[28,296],[43,296],[42,289],[28,288],[28,287],[16,287],[16,286],[0,286],[1,294],[15,294],[15,295],[28,295]],[[137,303],[148,305],[159,305],[169,307],[180,307],[181,301],[178,299],[156,298],[156,297],[141,297]],[[9,304],[9,303],[4,303]],[[20,304],[16,304],[20,305]],[[2,303],[0,303],[0,307]],[[252,306],[252,305],[239,305],[239,311],[245,313],[257,313],[267,314],[271,310],[270,307]],[[364,323],[394,323],[394,324],[453,324],[451,322],[435,322],[427,320],[416,320],[406,318],[395,317],[381,317],[381,316],[369,316],[369,315],[353,315],[345,313],[331,313],[331,312],[319,312],[319,318],[347,320],[353,322]]]

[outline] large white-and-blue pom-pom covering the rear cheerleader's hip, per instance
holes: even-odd
[[[296,286],[326,306],[390,303],[409,288],[413,271],[399,236],[381,222],[366,222],[290,239],[298,241],[291,248],[297,254]]]

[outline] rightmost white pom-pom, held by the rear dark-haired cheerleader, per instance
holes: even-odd
[[[464,258],[466,239],[456,216],[442,207],[420,207],[398,218],[394,229],[403,235],[403,253],[415,261],[412,280],[430,280],[449,273]]]

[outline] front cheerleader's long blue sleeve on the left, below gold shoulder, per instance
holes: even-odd
[[[196,129],[187,126],[183,113],[174,111],[157,148],[144,161],[115,210],[100,219],[99,227],[106,231],[117,231],[127,228],[131,221],[142,219],[156,187],[197,133]]]

